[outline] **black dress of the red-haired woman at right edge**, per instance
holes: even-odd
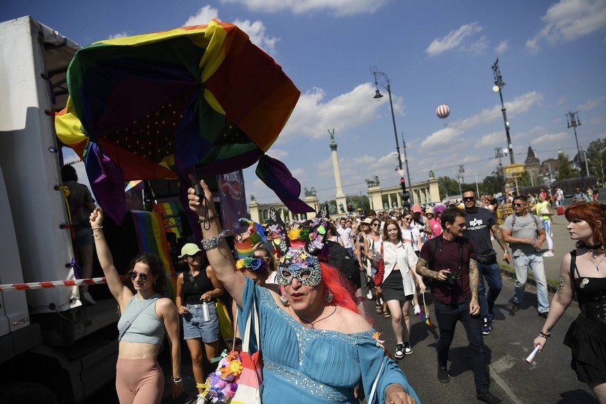
[[[581,313],[571,323],[564,344],[572,350],[571,368],[580,382],[606,381],[606,278],[581,278],[571,252],[571,279]],[[575,278],[576,272],[576,278]]]

